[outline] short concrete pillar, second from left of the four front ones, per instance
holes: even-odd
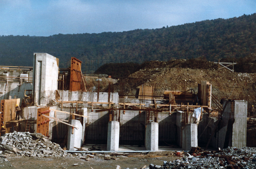
[[[108,122],[108,144],[107,151],[118,151],[119,148],[119,122],[109,121]]]

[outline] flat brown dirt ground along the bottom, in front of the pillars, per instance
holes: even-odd
[[[48,169],[48,168],[64,168],[64,169],[103,169],[111,168],[116,169],[119,165],[122,169],[125,168],[142,168],[150,164],[163,165],[163,161],[172,161],[175,159],[180,159],[181,157],[176,157],[171,151],[162,151],[144,154],[142,157],[126,157],[126,156],[116,156],[115,159],[104,160],[104,157],[90,158],[90,161],[79,158],[73,155],[71,158],[67,157],[52,157],[52,158],[34,158],[34,157],[24,157],[19,155],[8,155],[7,158],[0,158],[0,168],[10,168],[10,169]],[[4,161],[5,160],[5,161]],[[78,164],[78,165],[74,165]],[[92,168],[91,168],[92,167]]]

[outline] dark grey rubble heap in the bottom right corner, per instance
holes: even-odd
[[[199,154],[190,155],[184,153],[182,160],[164,161],[164,165],[150,164],[151,169],[206,169],[206,168],[227,168],[227,169],[253,169],[256,168],[256,148],[244,147],[237,149],[228,147],[221,151],[205,151]]]

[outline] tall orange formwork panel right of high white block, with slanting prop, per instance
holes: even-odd
[[[71,67],[70,67],[70,91],[83,91],[86,92],[85,80],[81,70],[82,62],[75,57],[71,58]]]

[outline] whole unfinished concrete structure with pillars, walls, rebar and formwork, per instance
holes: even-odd
[[[203,81],[198,85],[201,86],[198,87],[201,106],[195,105],[195,100],[189,100],[195,95],[192,92],[164,91],[164,98],[167,98],[152,99],[152,87],[148,90],[140,87],[140,90],[143,89],[139,91],[140,96],[132,99],[111,91],[111,83],[109,92],[96,91],[93,83],[90,91],[79,88],[88,88],[80,70],[81,62],[73,62],[77,67],[72,69],[72,76],[77,77],[70,77],[64,83],[64,77],[68,78],[71,72],[59,74],[61,69],[58,64],[59,59],[52,55],[34,53],[33,70],[0,70],[1,103],[11,98],[19,98],[20,105],[25,103],[20,121],[4,121],[10,129],[29,132],[47,130],[49,139],[67,143],[67,149],[71,151],[83,144],[107,145],[107,151],[118,151],[119,145],[132,145],[135,149],[137,146],[143,151],[158,151],[161,146],[172,145],[189,151],[191,147],[204,147],[209,140],[211,148],[246,146],[247,101],[225,100],[222,108],[226,103],[227,107],[219,127],[214,131],[218,116],[211,116],[214,110],[211,109],[212,86],[209,82]],[[99,79],[86,78],[90,82],[93,78]],[[108,80],[111,82],[111,79]],[[59,87],[58,82],[61,82]],[[72,91],[68,86],[63,87],[72,82]],[[147,95],[147,99],[143,95]],[[30,102],[27,103],[26,99]],[[186,100],[189,101],[184,105]],[[1,108],[1,114],[11,114],[5,109]],[[15,123],[19,125],[13,125]]]

